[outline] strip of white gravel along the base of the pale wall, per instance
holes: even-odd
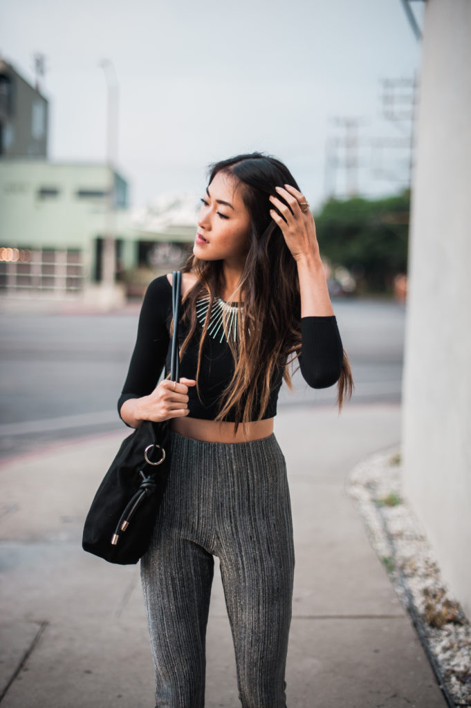
[[[400,447],[356,464],[346,479],[346,493],[411,616],[448,705],[470,707],[470,620],[450,595],[424,528],[402,496]]]

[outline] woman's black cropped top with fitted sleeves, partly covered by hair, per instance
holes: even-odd
[[[118,399],[118,413],[127,399],[150,394],[159,382],[165,365],[165,376],[170,371],[171,338],[169,328],[172,318],[172,286],[166,275],[154,278],[147,287],[137,326],[137,340],[130,360],[129,370]],[[181,377],[195,379],[198,364],[198,346],[203,328],[197,324],[195,337],[188,343],[179,365]],[[181,345],[188,331],[178,326]],[[337,327],[336,316],[301,317],[302,348],[299,365],[302,377],[314,389],[333,386],[339,380],[344,350]],[[198,398],[196,386],[188,386],[188,416],[214,420],[219,410],[216,402],[234,373],[234,358],[225,338],[220,341],[209,333],[203,343],[198,387],[203,402]],[[283,382],[283,368],[276,370],[271,382],[271,395],[263,418],[276,416],[278,392]],[[252,411],[256,420],[258,409]],[[234,409],[227,421],[234,421]],[[127,425],[127,423],[126,423]],[[130,427],[130,426],[128,426]]]

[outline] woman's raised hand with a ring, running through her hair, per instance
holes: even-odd
[[[314,256],[320,260],[314,217],[309,208],[303,212],[300,207],[300,203],[307,202],[305,195],[289,184],[285,184],[285,188],[276,187],[276,190],[288,202],[289,207],[277,197],[270,195],[271,203],[277,207],[283,218],[274,209],[270,210],[270,214],[283,232],[293,258],[295,261],[300,261],[305,256]]]

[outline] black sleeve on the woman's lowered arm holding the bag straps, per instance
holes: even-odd
[[[152,280],[142,301],[135,348],[118,399],[120,418],[121,406],[125,401],[147,396],[154,390],[165,365],[170,341],[166,315],[171,303],[171,288],[164,278],[166,275]]]

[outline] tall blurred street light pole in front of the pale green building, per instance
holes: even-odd
[[[105,287],[115,284],[115,176],[118,157],[118,77],[110,59],[102,59],[107,86],[106,110],[106,166],[108,188],[106,190],[105,234],[103,238],[101,280]]]

